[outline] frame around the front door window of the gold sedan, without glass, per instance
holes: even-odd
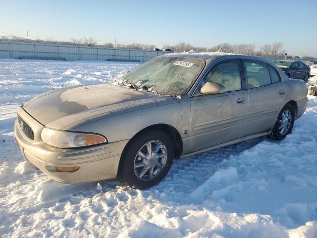
[[[239,91],[243,91],[245,90],[245,79],[244,79],[244,73],[243,73],[243,70],[241,68],[241,62],[240,62],[240,59],[239,58],[227,58],[227,59],[221,59],[221,60],[217,60],[215,61],[213,64],[211,64],[210,68],[205,72],[205,74],[203,75],[203,77],[200,79],[200,81],[198,82],[193,94],[192,94],[192,97],[197,97],[197,96],[209,96],[209,95],[204,95],[204,94],[201,94],[200,93],[200,87],[201,85],[203,86],[204,85],[204,80],[205,78],[209,75],[209,73],[211,72],[211,70],[216,67],[219,63],[222,63],[224,61],[229,61],[229,60],[235,60],[237,61],[238,63],[238,67],[239,67],[239,72],[240,72],[240,83],[241,83],[241,89],[239,90],[235,90],[235,91],[226,91],[224,93],[220,93],[220,94],[215,94],[215,95],[224,95],[225,93],[231,93],[231,92],[239,92]]]

